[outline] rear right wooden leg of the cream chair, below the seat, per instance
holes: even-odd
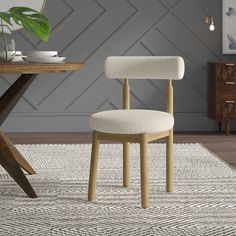
[[[167,137],[166,144],[166,191],[173,191],[173,129]]]

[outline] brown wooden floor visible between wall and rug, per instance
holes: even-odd
[[[8,133],[15,144],[91,143],[91,133]],[[163,140],[164,141],[164,140]],[[163,142],[160,141],[160,142]],[[228,164],[236,168],[236,133],[176,133],[175,143],[202,143]]]

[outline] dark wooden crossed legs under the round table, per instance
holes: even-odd
[[[6,120],[36,76],[37,74],[21,75],[0,97],[0,125]],[[0,164],[29,197],[37,197],[21,168],[29,174],[35,174],[35,171],[15,148],[7,135],[1,131]]]

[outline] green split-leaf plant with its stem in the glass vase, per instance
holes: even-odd
[[[9,61],[8,43],[5,29],[10,30],[13,22],[22,26],[31,34],[39,37],[43,41],[47,41],[51,33],[51,27],[48,19],[42,13],[28,7],[12,7],[6,12],[0,12],[1,34],[4,43],[5,60]]]

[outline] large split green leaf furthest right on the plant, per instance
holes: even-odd
[[[12,7],[9,13],[16,24],[21,25],[40,39],[48,40],[51,27],[43,14],[28,7]]]

